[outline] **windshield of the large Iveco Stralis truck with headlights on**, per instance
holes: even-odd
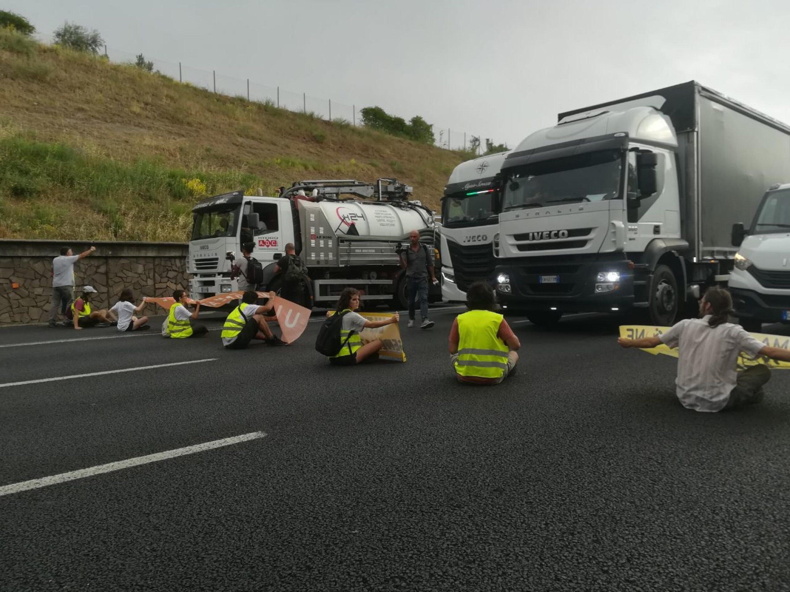
[[[502,210],[621,198],[623,152],[601,150],[503,171]]]

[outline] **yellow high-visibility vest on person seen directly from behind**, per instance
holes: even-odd
[[[463,377],[502,378],[509,348],[496,334],[502,315],[470,310],[458,315],[458,358],[455,371]]]

